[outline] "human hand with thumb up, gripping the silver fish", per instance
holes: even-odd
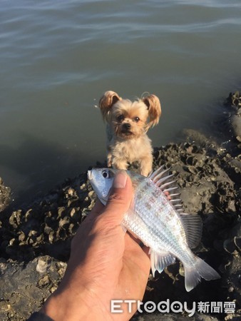
[[[120,171],[104,207],[99,201],[78,229],[71,244],[66,273],[41,312],[53,320],[129,320],[128,312],[111,313],[111,300],[142,300],[150,272],[145,251],[121,221],[133,197],[129,176]],[[146,249],[145,249],[146,250]]]

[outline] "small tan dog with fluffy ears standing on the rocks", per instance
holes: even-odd
[[[147,131],[158,124],[161,108],[157,96],[136,101],[122,99],[114,91],[106,91],[99,102],[107,121],[108,167],[124,169],[138,161],[140,174],[147,176],[153,167],[153,148]]]

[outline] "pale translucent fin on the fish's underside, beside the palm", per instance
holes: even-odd
[[[158,251],[155,252],[150,249],[150,267],[153,273],[153,277],[155,277],[155,271],[159,273],[163,272],[165,267],[175,262],[175,257],[170,254],[170,252],[166,251]]]

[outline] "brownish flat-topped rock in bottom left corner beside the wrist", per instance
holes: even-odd
[[[48,268],[39,272],[39,261],[48,260]],[[38,258],[29,263],[0,263],[0,320],[26,320],[37,311],[43,298],[51,294],[51,285],[58,285],[61,277],[59,263],[53,258]]]

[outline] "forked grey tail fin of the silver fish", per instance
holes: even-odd
[[[184,265],[185,269],[185,288],[189,292],[198,285],[201,277],[207,281],[216,280],[220,275],[210,265],[205,263],[202,259],[195,257],[195,265]]]

